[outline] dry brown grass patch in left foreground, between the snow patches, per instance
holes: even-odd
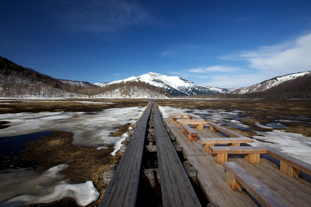
[[[119,131],[123,134],[124,129],[127,130],[128,127],[123,126]],[[71,145],[72,135],[65,131],[54,131],[50,136],[27,143],[29,148],[25,150],[21,159],[38,163],[37,171],[44,171],[59,164],[68,164],[70,166],[64,173],[70,179],[70,183],[93,181],[94,186],[100,191],[101,199],[107,187],[103,183],[103,173],[109,169],[109,165],[118,164],[123,153],[118,152],[116,156],[112,156],[110,155],[114,150],[112,148],[97,150],[95,147]],[[100,199],[90,206],[98,206]],[[64,202],[68,202],[68,199],[61,201]]]

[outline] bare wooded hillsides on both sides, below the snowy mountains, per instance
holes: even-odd
[[[65,83],[63,83],[63,82]],[[98,87],[89,82],[58,80],[51,76],[41,74],[31,68],[17,65],[16,63],[0,56],[0,97],[43,96],[43,97],[91,97],[119,89],[128,93],[133,87],[139,87],[173,97],[164,89],[142,81],[128,81]],[[72,83],[69,85],[66,83]],[[139,93],[145,93],[139,90]],[[133,92],[132,92],[133,93]],[[138,93],[138,92],[137,92]],[[149,92],[150,93],[150,92]],[[174,96],[178,98],[221,98],[221,99],[311,99],[311,76],[304,75],[293,80],[285,81],[268,90],[245,94],[212,94]]]

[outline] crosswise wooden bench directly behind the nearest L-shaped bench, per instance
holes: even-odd
[[[211,147],[215,144],[228,144],[230,147],[240,146],[241,143],[252,143],[254,140],[244,137],[236,138],[200,138],[206,152],[211,152]]]

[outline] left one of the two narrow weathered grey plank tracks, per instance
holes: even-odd
[[[135,206],[150,103],[139,120],[99,206]]]

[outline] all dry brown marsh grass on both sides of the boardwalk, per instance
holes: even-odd
[[[70,99],[72,101],[72,99]],[[85,99],[77,99],[79,101]],[[75,102],[35,102],[19,103],[8,100],[12,104],[0,104],[0,114],[21,113],[21,112],[42,112],[42,111],[81,111],[95,112],[105,108],[146,106],[148,102],[145,99],[93,99],[93,101],[113,102],[114,104],[83,104]],[[246,115],[241,115],[239,121],[252,127],[255,130],[265,130],[254,125],[254,122],[267,124],[280,119],[279,116],[307,116],[311,117],[310,100],[157,100],[160,106],[187,107],[197,109],[223,109],[226,111],[242,110],[248,111]],[[246,118],[246,117],[256,118]],[[272,117],[272,118],[271,118]],[[282,119],[285,119],[282,117]],[[212,120],[208,120],[212,121]],[[301,122],[282,123],[288,129],[288,132],[301,133],[304,136],[311,136],[311,125]],[[130,124],[120,127],[117,132],[112,132],[111,136],[121,136],[128,131]],[[226,127],[238,132],[244,136],[254,136],[256,132],[250,130],[235,129]],[[106,185],[103,184],[103,173],[111,164],[117,164],[123,153],[118,152],[116,156],[111,156],[112,148],[96,150],[94,147],[83,147],[71,145],[72,133],[64,131],[55,131],[51,136],[46,136],[41,140],[29,143],[29,148],[22,159],[35,161],[38,163],[37,170],[43,171],[58,164],[68,164],[64,173],[70,179],[71,183],[82,183],[88,180],[94,182],[94,186],[100,191],[100,199],[104,194]],[[100,199],[90,206],[98,206]],[[63,206],[66,203],[72,203],[70,199],[63,200]]]

